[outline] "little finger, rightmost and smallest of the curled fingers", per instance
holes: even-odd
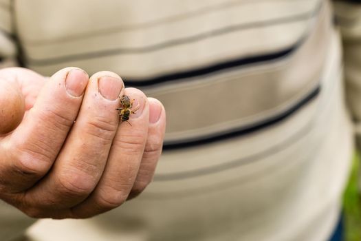
[[[138,196],[151,182],[157,161],[162,153],[164,132],[166,131],[165,109],[155,98],[148,98],[149,102],[149,129],[144,148],[142,163],[137,178],[129,194],[128,200]]]

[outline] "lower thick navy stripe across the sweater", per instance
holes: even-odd
[[[302,108],[304,105],[312,101],[318,94],[320,93],[320,86],[316,87],[311,93],[309,93],[305,98],[303,98],[300,102],[296,103],[296,105],[289,107],[285,112],[282,114],[278,114],[267,120],[260,121],[259,123],[253,123],[252,125],[244,126],[239,129],[230,129],[228,132],[222,133],[215,133],[208,136],[199,136],[197,138],[191,139],[184,139],[184,140],[177,140],[177,141],[168,141],[164,142],[163,149],[166,150],[173,150],[173,149],[181,149],[181,148],[189,148],[189,147],[197,147],[199,145],[206,145],[209,143],[215,143],[217,141],[226,140],[230,138],[237,138],[239,136],[244,136],[247,134],[251,134],[253,132],[257,132],[261,129],[265,129],[276,123],[279,123],[285,118],[291,116],[298,109]]]

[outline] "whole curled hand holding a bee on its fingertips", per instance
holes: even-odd
[[[0,198],[33,218],[88,218],[137,196],[160,157],[165,111],[123,86],[113,72],[0,70]],[[131,125],[119,123],[122,95],[139,107]]]

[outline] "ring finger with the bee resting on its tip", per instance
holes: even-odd
[[[139,109],[131,114],[131,125],[120,123],[98,186],[87,200],[72,209],[77,218],[88,218],[118,207],[127,200],[133,187],[146,143],[149,104],[140,90],[127,88],[124,94],[135,99],[132,109]]]

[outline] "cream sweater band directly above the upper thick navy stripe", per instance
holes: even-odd
[[[305,29],[308,28],[305,25],[307,23],[304,22],[286,23],[284,25],[272,26],[272,28],[267,28],[261,32],[259,30],[245,30],[243,32],[234,32],[204,39],[204,41],[197,43],[177,45],[143,54],[98,56],[95,59],[82,59],[55,64],[49,63],[43,66],[32,65],[30,62],[28,66],[46,75],[50,75],[54,70],[61,69],[62,67],[74,65],[84,67],[89,73],[110,70],[119,73],[124,78],[127,78],[127,76],[132,78],[149,78],[169,72],[219,63],[228,59],[238,59],[240,56],[277,52],[289,48],[307,32]],[[290,34],[278,35],[278,32],[290,32]],[[269,36],[269,38],[263,42],[254,41],[254,39],[264,39],[265,36]],[[227,44],[225,45],[224,43]],[[222,48],[219,48],[219,46],[222,46]],[[234,48],[234,46],[237,46],[237,48]],[[61,48],[59,51],[61,51]],[[177,56],[177,58],[171,58],[170,56]]]

